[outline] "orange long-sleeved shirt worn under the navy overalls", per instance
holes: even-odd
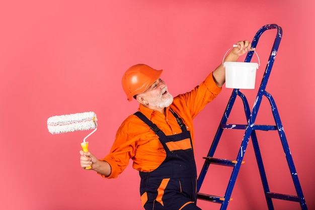
[[[182,118],[187,130],[190,131],[194,145],[193,119],[219,94],[218,87],[210,73],[205,81],[192,91],[174,97],[170,107],[166,108],[166,116],[160,112],[148,109],[140,104],[138,111],[157,125],[167,136],[181,133],[176,118],[170,108]],[[133,160],[132,167],[142,172],[150,172],[164,161],[166,152],[159,137],[135,115],[130,115],[119,127],[116,139],[110,153],[103,159],[111,166],[111,174],[104,178],[117,178],[127,167],[129,160]]]

